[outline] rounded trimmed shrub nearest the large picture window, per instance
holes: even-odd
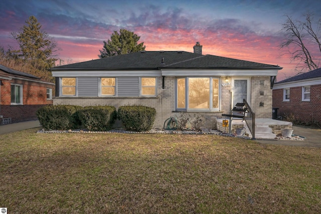
[[[151,107],[132,105],[120,106],[118,118],[126,130],[148,131],[152,128],[156,117],[156,110]]]

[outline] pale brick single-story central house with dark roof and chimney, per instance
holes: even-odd
[[[279,66],[194,53],[140,51],[51,68],[54,105],[154,107],[155,128],[180,114],[199,113],[216,129],[223,113],[246,99],[256,118],[272,117],[272,85]],[[266,120],[265,120],[266,121]],[[222,124],[222,122],[221,122]]]

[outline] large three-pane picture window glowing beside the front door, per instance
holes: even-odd
[[[177,79],[177,109],[219,110],[219,79],[186,77]]]

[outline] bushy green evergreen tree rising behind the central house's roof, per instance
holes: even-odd
[[[104,41],[103,50],[100,51],[99,58],[117,56],[121,54],[128,54],[131,52],[144,51],[146,46],[144,43],[137,44],[139,36],[134,32],[127,31],[126,29],[120,29],[119,33],[114,31],[110,40]]]

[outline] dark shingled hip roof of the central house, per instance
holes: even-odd
[[[244,60],[185,51],[141,51],[51,68],[63,70],[282,69]]]

